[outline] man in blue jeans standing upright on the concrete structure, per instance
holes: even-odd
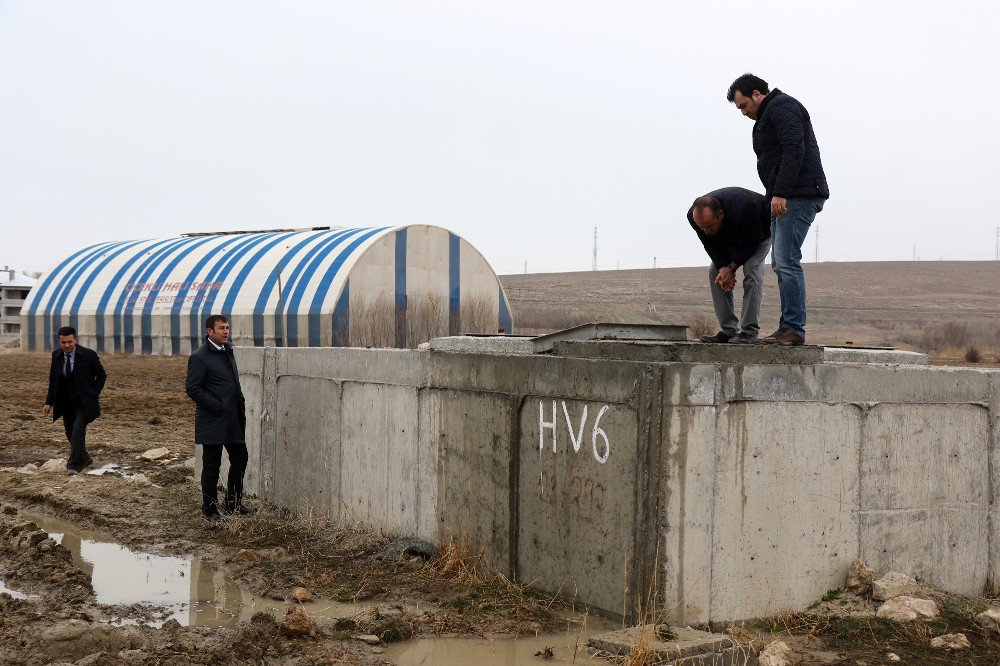
[[[771,267],[778,276],[781,321],[762,340],[801,345],[806,339],[806,281],[802,243],[809,225],[830,197],[809,112],[794,97],[753,74],[729,86],[726,99],[754,121],[757,174],[770,200]]]

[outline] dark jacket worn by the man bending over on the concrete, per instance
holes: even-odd
[[[694,206],[688,208],[688,224],[698,234],[705,252],[716,268],[746,263],[761,242],[771,237],[771,218],[765,215],[764,197],[742,187],[724,187],[709,192],[722,204],[722,226],[714,236],[706,236],[694,223]]]

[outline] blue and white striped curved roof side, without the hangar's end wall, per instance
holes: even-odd
[[[263,317],[278,309],[333,312],[340,287],[368,245],[394,227],[193,236],[99,243],[65,259],[32,290],[22,309],[27,335],[51,340],[59,326],[96,316],[98,338],[132,335],[130,314],[170,314],[201,322],[212,312]],[[105,331],[105,318],[122,331]],[[260,320],[259,322],[257,320]],[[36,331],[41,323],[45,330]],[[178,325],[180,321],[176,322]],[[48,346],[46,344],[46,346]]]

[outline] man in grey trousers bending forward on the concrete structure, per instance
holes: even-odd
[[[724,187],[694,200],[688,223],[711,257],[708,267],[712,305],[719,332],[702,342],[753,342],[760,333],[760,300],[764,291],[764,258],[771,249],[771,229],[764,197],[742,187]],[[740,318],[733,307],[736,271],[743,267]]]

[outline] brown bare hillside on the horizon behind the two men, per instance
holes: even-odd
[[[1000,262],[829,262],[804,268],[809,342],[1000,347]],[[777,328],[778,288],[769,266],[765,276],[761,332],[766,335]],[[716,327],[707,265],[500,280],[515,325],[525,332],[594,319]]]

